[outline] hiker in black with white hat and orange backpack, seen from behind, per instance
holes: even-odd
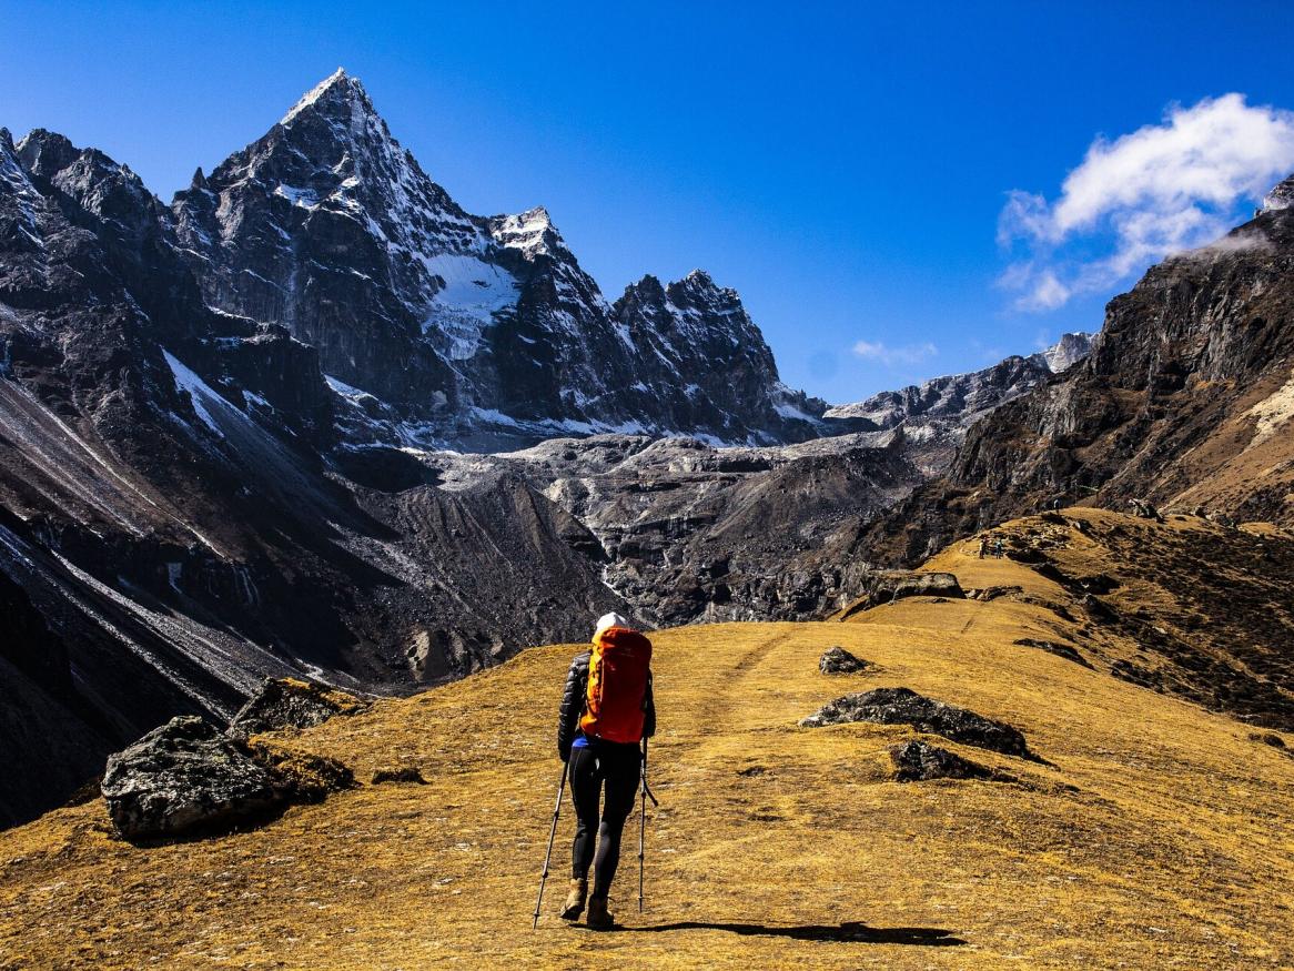
[[[571,892],[562,917],[606,930],[615,918],[607,895],[620,862],[620,836],[642,772],[639,743],[656,733],[651,690],[651,641],[619,614],[598,620],[593,649],[571,662],[558,720],[558,753],[569,766],[576,830]],[[599,817],[598,803],[606,790]],[[598,848],[594,856],[594,834]],[[593,867],[593,893],[589,869]]]

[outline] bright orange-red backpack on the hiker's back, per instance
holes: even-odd
[[[612,627],[589,653],[589,697],[580,728],[589,738],[637,743],[643,737],[651,641]]]

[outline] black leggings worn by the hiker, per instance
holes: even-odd
[[[593,864],[593,888],[606,895],[620,862],[620,834],[634,808],[642,755],[635,744],[591,741],[587,748],[571,750],[571,798],[575,801],[575,847],[571,875],[582,880]],[[599,820],[598,803],[606,783],[607,801]],[[598,857],[593,834],[598,832]]]

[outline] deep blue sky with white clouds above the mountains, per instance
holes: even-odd
[[[704,267],[848,401],[1095,330],[1251,210],[1294,170],[1291,40],[1255,0],[0,0],[0,124],[170,199],[342,65],[467,210],[545,205],[608,299]]]

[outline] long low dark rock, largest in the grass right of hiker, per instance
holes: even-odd
[[[800,724],[805,728],[822,728],[849,721],[911,725],[919,731],[943,735],[963,744],[1003,755],[1033,757],[1025,737],[1011,725],[925,698],[908,687],[877,687],[872,691],[846,694]]]

